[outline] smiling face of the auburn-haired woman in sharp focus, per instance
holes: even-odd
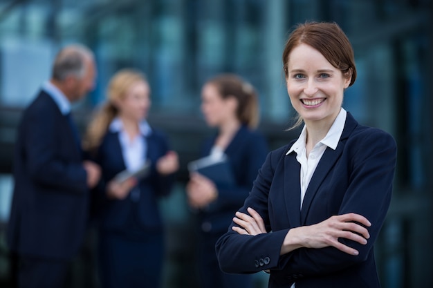
[[[350,77],[332,66],[315,48],[300,44],[288,56],[287,93],[304,122],[332,124],[340,112]]]

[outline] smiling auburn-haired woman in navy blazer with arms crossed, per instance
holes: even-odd
[[[380,287],[374,242],[391,200],[396,143],[342,108],[356,68],[336,23],[297,26],[283,64],[305,125],[266,157],[216,243],[219,264],[229,273],[268,271],[269,287]]]

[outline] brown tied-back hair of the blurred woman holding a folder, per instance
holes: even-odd
[[[259,104],[256,90],[250,83],[234,74],[221,74],[209,79],[206,84],[214,85],[223,99],[237,99],[236,115],[239,121],[250,128],[257,127]]]

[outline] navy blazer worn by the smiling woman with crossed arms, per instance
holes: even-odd
[[[260,213],[272,233],[242,236],[228,230],[216,244],[223,271],[252,273],[270,269],[269,287],[380,287],[373,244],[391,200],[396,143],[391,135],[360,126],[348,113],[335,151],[326,148],[300,210],[300,164],[291,144],[271,152],[261,167],[246,203]],[[289,229],[316,224],[331,215],[359,213],[370,222],[371,238],[351,256],[333,247],[296,249],[279,256]],[[233,225],[233,223],[232,223]]]

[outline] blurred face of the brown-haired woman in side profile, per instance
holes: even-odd
[[[220,126],[234,117],[233,99],[223,99],[214,84],[205,84],[201,90],[201,112],[211,127]]]

